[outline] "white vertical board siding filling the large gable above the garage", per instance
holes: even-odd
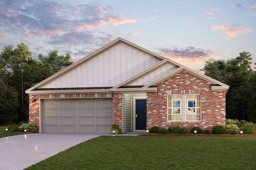
[[[162,59],[119,42],[39,88],[114,87],[160,61]]]

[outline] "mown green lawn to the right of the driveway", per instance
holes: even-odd
[[[248,170],[255,157],[256,137],[101,136],[27,170]]]

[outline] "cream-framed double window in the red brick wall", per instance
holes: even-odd
[[[173,94],[167,100],[168,121],[200,121],[200,94]]]

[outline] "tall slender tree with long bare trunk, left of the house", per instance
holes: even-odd
[[[23,42],[17,45],[17,48],[14,49],[14,59],[13,59],[13,68],[16,68],[16,71],[21,73],[21,94],[22,94],[22,112],[24,111],[24,84],[23,84],[23,66],[27,61],[32,60],[32,52],[29,51],[27,45]]]

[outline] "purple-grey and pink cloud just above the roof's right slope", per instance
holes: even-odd
[[[210,50],[200,49],[192,46],[181,49],[170,46],[168,48],[159,48],[158,51],[158,53],[164,57],[186,64],[204,64],[206,60],[212,57],[211,54],[213,53]]]

